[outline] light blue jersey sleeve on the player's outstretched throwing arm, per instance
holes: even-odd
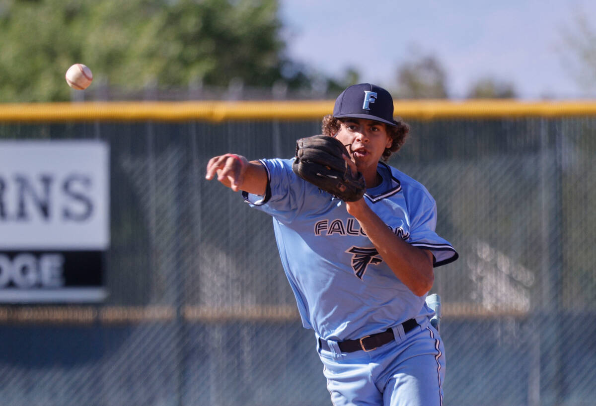
[[[304,182],[291,168],[291,160],[259,160],[267,172],[265,195],[243,192],[243,198],[254,208],[274,216],[280,221],[290,222],[302,208]]]

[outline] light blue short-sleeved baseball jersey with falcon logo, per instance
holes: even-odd
[[[261,160],[264,196],[243,193],[274,219],[281,263],[306,328],[343,341],[382,332],[410,318],[432,315],[378,255],[345,203],[296,176],[292,160]],[[383,182],[365,200],[396,235],[429,249],[434,267],[455,261],[452,245],[435,233],[436,204],[416,180],[379,163]]]

